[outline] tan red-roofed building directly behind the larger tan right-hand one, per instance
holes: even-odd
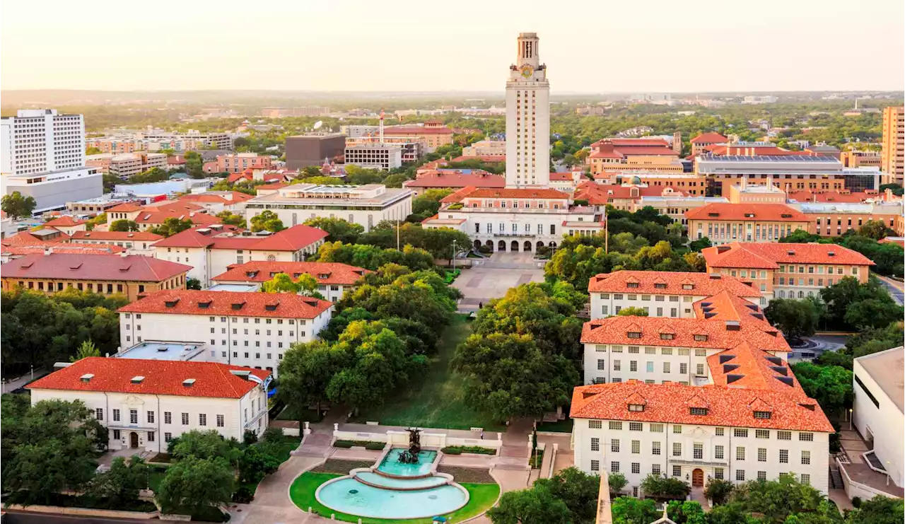
[[[685,213],[689,237],[719,245],[776,242],[795,231],[810,231],[811,219],[784,204],[710,204]]]

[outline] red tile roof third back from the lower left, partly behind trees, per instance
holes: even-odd
[[[264,282],[276,273],[286,273],[293,279],[302,273],[309,274],[319,284],[355,284],[370,271],[338,262],[245,262],[228,266],[226,272],[215,276],[213,281]]]

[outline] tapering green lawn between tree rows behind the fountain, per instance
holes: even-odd
[[[416,425],[446,429],[482,427],[487,432],[505,431],[505,426],[481,413],[465,398],[466,378],[450,369],[455,347],[471,334],[464,315],[456,315],[443,332],[437,355],[421,379],[416,379],[385,405],[362,412],[356,422],[377,421],[386,425]]]

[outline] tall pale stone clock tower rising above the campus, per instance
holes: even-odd
[[[550,84],[537,33],[519,33],[518,59],[506,81],[506,186],[548,187]]]

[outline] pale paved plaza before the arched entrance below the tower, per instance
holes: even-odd
[[[461,311],[476,311],[479,304],[500,298],[520,284],[544,281],[543,264],[535,262],[529,252],[495,252],[481,262],[462,270],[452,283],[465,295],[459,302]]]

